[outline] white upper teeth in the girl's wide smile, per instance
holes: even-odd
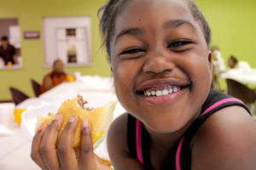
[[[147,90],[144,90],[144,95],[146,96],[161,96],[161,95],[168,95],[176,93],[180,90],[180,87],[177,86],[170,86],[163,89],[156,89],[156,88],[148,88]]]

